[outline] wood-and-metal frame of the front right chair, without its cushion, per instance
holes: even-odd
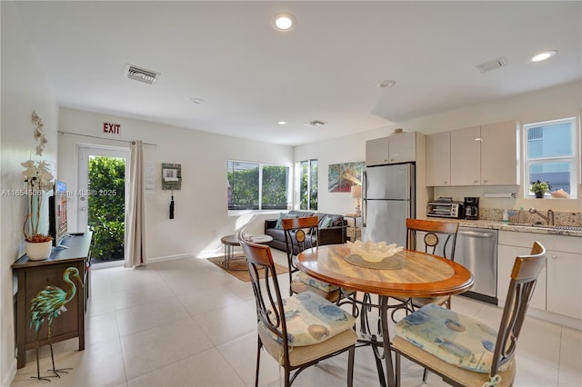
[[[546,249],[541,243],[535,242],[529,255],[518,255],[511,272],[511,282],[507,291],[507,300],[503,309],[503,316],[497,331],[497,341],[494,351],[493,363],[489,372],[490,381],[494,381],[499,367],[511,361],[516,353],[517,339],[526,318],[529,300],[536,289],[537,277],[546,264]],[[405,356],[412,362],[416,362],[425,369],[437,373],[443,381],[451,385],[459,384],[446,372],[441,372],[437,366],[419,362],[418,359],[400,352],[395,347],[396,352],[396,386],[400,385],[400,356]],[[435,359],[437,359],[435,357]],[[442,361],[441,361],[442,362]],[[511,385],[513,381],[505,381]],[[479,384],[479,386],[482,383]]]

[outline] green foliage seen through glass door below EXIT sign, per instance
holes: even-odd
[[[98,261],[124,259],[125,160],[89,158],[89,227],[93,231],[91,255]]]

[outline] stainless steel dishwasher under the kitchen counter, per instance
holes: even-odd
[[[460,226],[455,262],[475,278],[473,288],[461,295],[497,305],[497,230]]]

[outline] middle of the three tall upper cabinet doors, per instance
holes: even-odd
[[[451,131],[451,185],[480,184],[480,126]]]

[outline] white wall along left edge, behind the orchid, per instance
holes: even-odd
[[[30,43],[20,16],[11,3],[2,2],[2,204],[0,206],[0,383],[9,385],[16,371],[15,327],[12,308],[13,281],[10,266],[20,256],[24,239],[25,198],[10,190],[24,189],[23,167],[35,160],[56,161],[58,107]],[[8,39],[8,36],[10,38]],[[43,156],[35,156],[33,111],[43,119],[48,143]]]

